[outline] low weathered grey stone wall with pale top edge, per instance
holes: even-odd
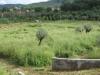
[[[53,58],[52,69],[59,70],[83,70],[100,68],[100,59],[67,59]]]

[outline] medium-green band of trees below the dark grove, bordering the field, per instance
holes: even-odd
[[[28,12],[26,12],[28,10]],[[35,10],[35,11],[33,11]],[[37,19],[43,20],[100,20],[100,10],[98,8],[92,8],[92,10],[67,10],[63,11],[60,8],[43,8],[43,7],[36,7],[29,9],[24,9],[22,12],[20,11],[13,11],[3,13],[3,16],[7,18],[11,22],[30,22],[35,21]],[[20,14],[19,14],[20,13]],[[2,14],[0,14],[2,17]]]

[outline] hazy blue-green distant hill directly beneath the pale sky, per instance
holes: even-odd
[[[27,4],[27,5],[22,5],[22,4],[5,4],[5,5],[0,5],[0,8],[13,8],[13,7],[26,7],[26,8],[34,8],[34,7],[59,7],[63,1],[65,0],[49,0],[47,2],[40,2],[40,3],[32,3],[32,4]],[[66,0],[67,2],[71,2],[73,0]]]

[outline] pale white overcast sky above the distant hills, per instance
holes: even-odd
[[[0,4],[29,4],[48,0],[0,0]]]

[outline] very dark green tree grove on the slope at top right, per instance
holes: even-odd
[[[77,10],[89,10],[99,6],[99,0],[73,0],[73,2],[64,1],[61,6],[63,11],[77,11]]]

